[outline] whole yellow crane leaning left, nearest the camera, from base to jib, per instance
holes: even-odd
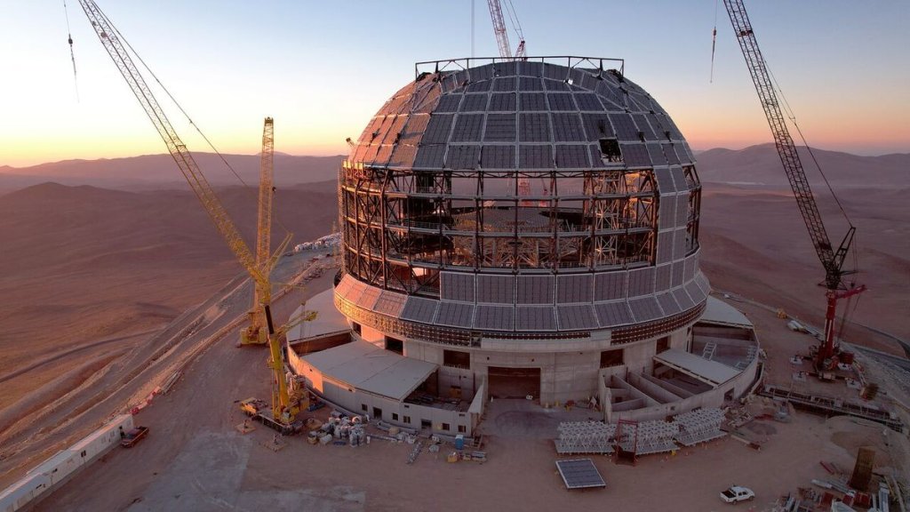
[[[157,129],[158,135],[167,145],[167,151],[170,153],[177,168],[187,179],[187,183],[196,196],[202,207],[208,213],[212,222],[215,223],[221,236],[227,241],[228,247],[234,252],[240,264],[246,269],[256,283],[259,290],[270,290],[268,275],[264,273],[264,267],[257,264],[253,253],[249,250],[247,243],[240,236],[237,226],[227,215],[227,210],[218,200],[215,191],[208,184],[206,177],[202,174],[193,155],[187,149],[187,146],[177,136],[177,131],[167,119],[164,110],[158,104],[157,99],[152,94],[151,89],[146,83],[132,57],[126,52],[126,47],[120,41],[119,33],[116,27],[111,23],[107,16],[101,11],[93,0],[79,0],[79,5],[86,13],[88,21],[95,30],[96,36],[105,47],[107,54],[111,57],[120,71],[120,75],[126,80],[126,84],[133,91],[134,96],[139,104],[146,111],[146,114],[152,124]],[[261,205],[260,205],[261,206]],[[270,200],[269,200],[270,210]],[[269,214],[270,215],[270,214]],[[267,249],[268,251],[268,249]],[[276,255],[278,252],[276,253]],[[268,320],[270,327],[270,314],[268,314],[268,304],[263,306],[264,316]],[[272,407],[272,415],[279,425],[290,425],[294,422],[294,414],[297,409],[296,404],[291,404],[288,394],[287,380],[284,373],[283,354],[278,342],[278,336],[267,336],[270,360],[269,368],[273,371],[274,389],[276,404]]]

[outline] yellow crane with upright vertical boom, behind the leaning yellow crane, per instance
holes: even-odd
[[[278,262],[278,255],[283,253],[290,242],[290,233],[278,245],[278,249],[269,254],[272,230],[272,199],[275,196],[275,126],[274,119],[266,118],[262,128],[262,154],[259,163],[259,200],[256,238],[256,266],[264,280],[253,282],[253,306],[248,312],[249,324],[240,332],[240,344],[265,344],[267,335],[265,318],[262,313],[264,304],[272,303],[271,282],[268,276]]]

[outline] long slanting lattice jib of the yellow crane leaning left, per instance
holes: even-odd
[[[202,175],[196,160],[193,159],[183,141],[177,136],[177,132],[158,105],[155,96],[148,88],[146,80],[139,73],[132,58],[126,53],[126,48],[116,36],[116,29],[110,24],[95,2],[79,0],[79,4],[82,5],[83,11],[86,12],[86,16],[95,29],[98,39],[105,46],[107,54],[114,60],[114,64],[120,70],[120,74],[126,79],[126,83],[133,90],[136,99],[139,100],[142,108],[145,109],[148,118],[155,125],[162,140],[165,141],[167,150],[177,163],[180,172],[187,179],[187,183],[189,183],[193,192],[196,193],[198,200],[206,209],[209,217],[215,222],[218,231],[221,232],[221,235],[227,241],[227,245],[230,246],[231,251],[234,252],[254,281],[264,282],[265,279],[262,272],[258,270],[256,260],[252,252],[249,251],[247,243],[240,236],[237,226],[227,216],[227,210],[221,205],[221,201],[217,199],[214,190],[208,184],[205,176]]]

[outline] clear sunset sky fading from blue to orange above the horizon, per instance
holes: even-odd
[[[693,148],[743,148],[771,136],[723,2],[512,0],[528,54],[620,57]],[[347,153],[369,118],[414,77],[414,63],[495,56],[486,2],[99,0],[196,124],[227,153]],[[503,1],[507,4],[507,0]],[[0,16],[0,166],[163,153],[166,148],[69,0],[4,2]],[[910,152],[910,3],[753,0],[763,54],[809,143],[876,155]],[[718,35],[711,72],[711,36]],[[507,22],[508,25],[508,22]],[[511,27],[510,27],[511,29]],[[512,46],[518,38],[510,31]],[[165,96],[157,93],[167,105]],[[191,150],[208,150],[173,109]]]

